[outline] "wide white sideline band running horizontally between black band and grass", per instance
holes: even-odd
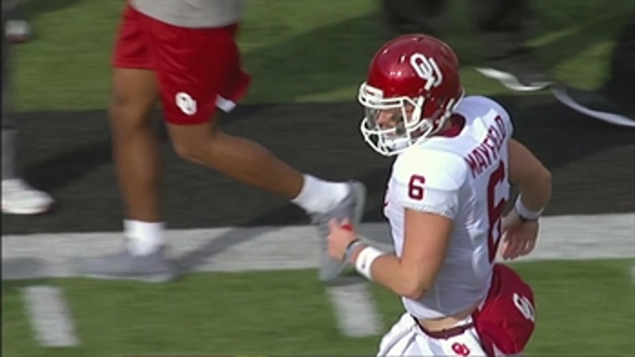
[[[635,213],[544,217],[537,248],[519,259],[612,259],[635,257]],[[363,224],[360,233],[389,244],[386,223]],[[319,265],[319,238],[312,226],[225,227],[168,230],[173,257],[197,255],[197,271],[240,272],[312,269]],[[73,276],[72,260],[121,248],[120,232],[3,236],[3,280]],[[220,252],[200,253],[224,242]],[[237,243],[232,243],[237,242]]]

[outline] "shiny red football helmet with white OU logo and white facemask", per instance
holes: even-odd
[[[384,44],[359,87],[366,142],[385,156],[399,154],[431,137],[463,98],[458,59],[443,41],[423,34],[399,36]],[[378,123],[392,111],[392,126]]]

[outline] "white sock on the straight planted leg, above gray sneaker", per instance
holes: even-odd
[[[124,220],[124,236],[128,238],[128,249],[133,255],[147,255],[165,243],[163,222]]]

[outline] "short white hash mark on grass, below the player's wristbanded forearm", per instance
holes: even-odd
[[[382,323],[368,283],[330,286],[328,295],[335,307],[338,327],[343,335],[366,337],[382,333]]]

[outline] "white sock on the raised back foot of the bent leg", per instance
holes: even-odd
[[[351,191],[345,182],[328,182],[311,175],[304,175],[300,194],[291,202],[309,213],[325,213],[337,206]]]

